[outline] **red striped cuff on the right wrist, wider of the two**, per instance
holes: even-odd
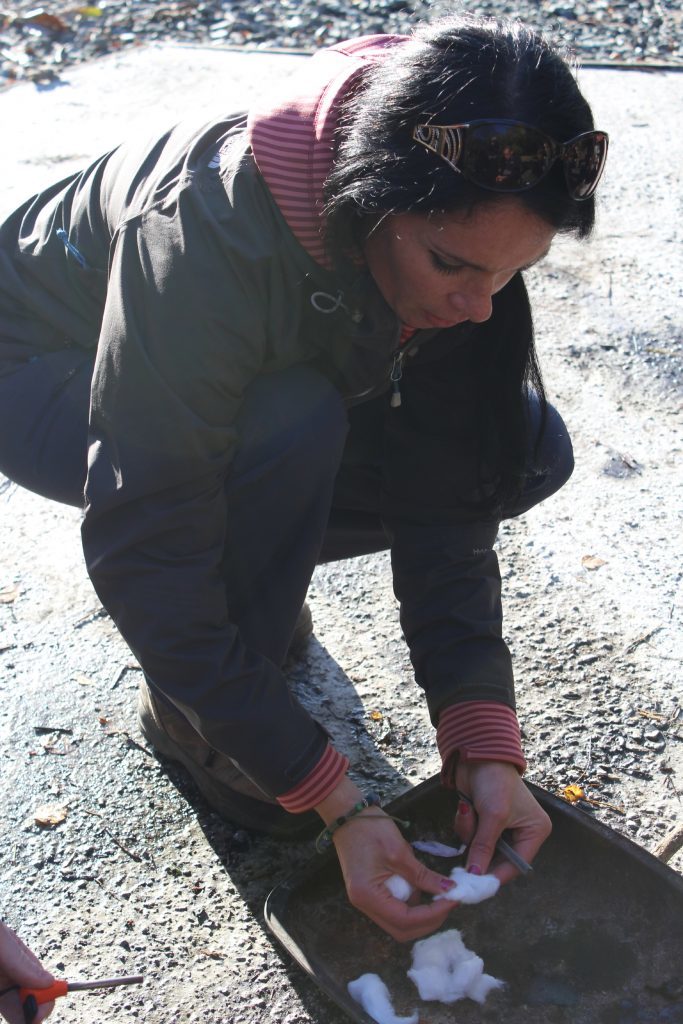
[[[439,716],[436,743],[445,786],[455,786],[458,763],[507,761],[520,774],[526,769],[517,716],[512,708],[495,700],[466,700],[445,708]]]

